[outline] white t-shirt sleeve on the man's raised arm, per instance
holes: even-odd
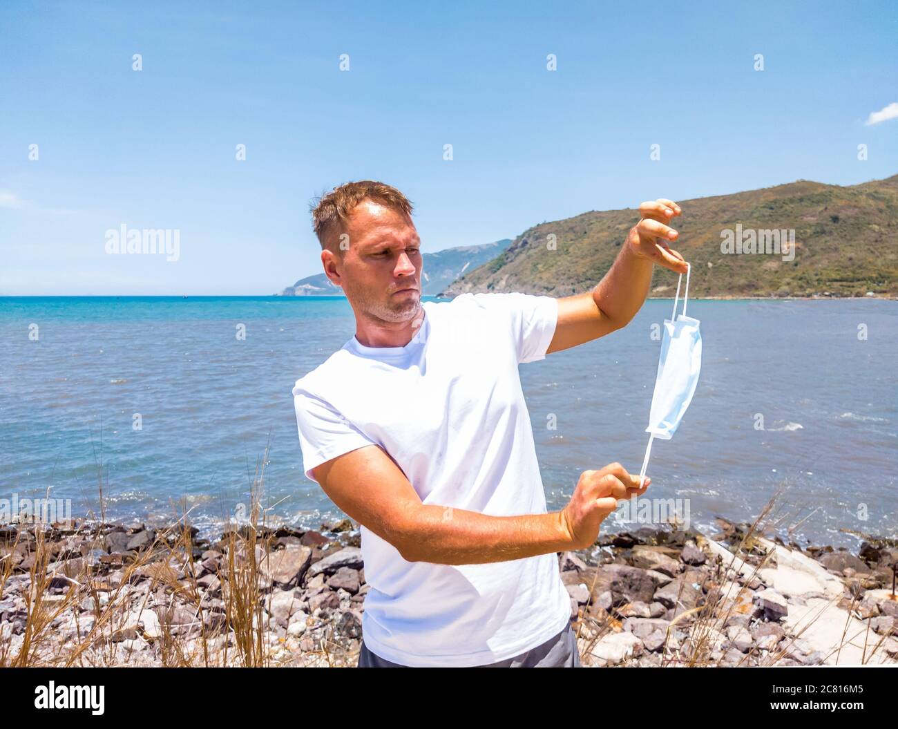
[[[474,294],[474,300],[484,308],[495,308],[505,314],[519,363],[545,359],[558,324],[558,299],[513,293]]]

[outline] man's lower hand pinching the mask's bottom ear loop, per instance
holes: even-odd
[[[602,470],[585,470],[580,475],[574,496],[561,511],[561,521],[570,535],[571,549],[592,547],[599,536],[599,526],[616,508],[619,499],[642,496],[652,479],[639,487],[639,477],[630,476],[620,463]]]

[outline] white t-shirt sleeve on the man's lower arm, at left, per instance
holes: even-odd
[[[306,479],[314,481],[312,470],[325,461],[365,445],[377,445],[326,400],[297,386],[293,401]]]

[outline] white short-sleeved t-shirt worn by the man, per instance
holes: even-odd
[[[545,358],[558,302],[462,294],[422,304],[405,347],[353,337],[296,381],[304,470],[365,445],[392,456],[425,504],[511,516],[546,499],[517,365]],[[312,479],[313,480],[313,479]],[[409,562],[361,527],[362,632],[381,658],[474,666],[524,653],[568,625],[554,553],[479,565]]]

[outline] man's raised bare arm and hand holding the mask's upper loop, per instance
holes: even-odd
[[[665,198],[639,206],[642,219],[630,229],[612,268],[593,291],[559,299],[558,324],[546,354],[577,347],[629,324],[646,301],[655,263],[686,272],[682,256],[667,246],[679,236],[667,223],[681,212]]]

